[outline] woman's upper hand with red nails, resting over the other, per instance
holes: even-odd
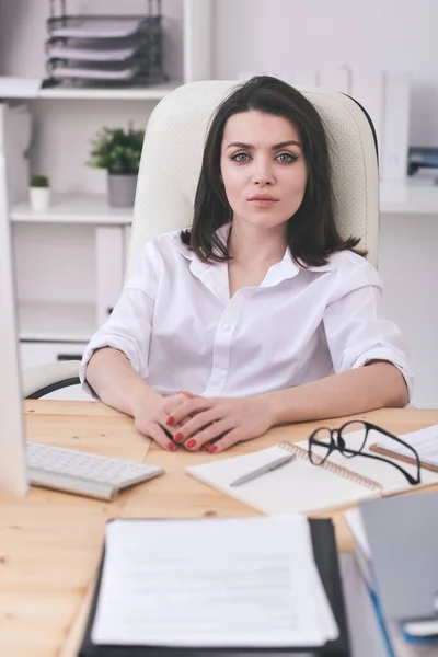
[[[191,451],[206,443],[210,453],[223,451],[237,442],[262,436],[274,425],[274,415],[263,397],[191,396],[166,419],[166,427],[180,427],[173,433],[174,441],[184,443]],[[209,445],[212,440],[215,445]]]

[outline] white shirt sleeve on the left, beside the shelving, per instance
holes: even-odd
[[[125,285],[119,300],[105,324],[88,344],[79,369],[82,389],[99,400],[87,382],[87,367],[96,349],[113,347],[122,351],[142,379],[148,378],[149,345],[160,262],[153,244],[148,242],[136,269]]]

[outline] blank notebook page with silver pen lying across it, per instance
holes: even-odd
[[[251,454],[191,465],[187,474],[268,515],[314,511],[376,496],[361,484],[300,458],[241,486],[230,486],[239,476],[284,453],[279,446],[268,447]]]

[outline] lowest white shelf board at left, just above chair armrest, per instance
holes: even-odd
[[[20,339],[89,342],[95,321],[94,303],[19,302]]]

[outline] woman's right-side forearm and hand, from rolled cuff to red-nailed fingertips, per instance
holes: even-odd
[[[274,425],[400,407],[407,401],[406,383],[397,368],[374,361],[313,383],[250,399],[192,399],[172,412],[166,424],[182,425],[174,435],[175,442],[184,442],[191,450],[207,442],[212,453],[257,438]]]

